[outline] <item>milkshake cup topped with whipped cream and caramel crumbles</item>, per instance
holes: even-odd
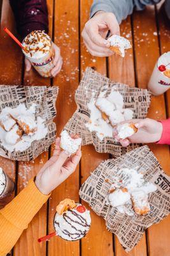
[[[23,42],[22,52],[25,58],[43,77],[51,77],[53,65],[52,40],[44,31],[32,31]]]

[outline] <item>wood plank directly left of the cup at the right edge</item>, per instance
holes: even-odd
[[[157,28],[154,6],[146,8],[145,12],[135,13],[134,40],[139,88],[146,88],[155,62],[159,57],[159,44],[155,32],[157,32]],[[166,118],[163,95],[153,97],[148,117],[154,119]],[[159,159],[164,170],[169,172],[169,148],[166,145],[156,144],[150,145],[150,148]],[[168,232],[169,218],[166,218],[166,220],[162,221],[159,225],[153,225],[148,228],[148,251],[150,256],[169,255]]]

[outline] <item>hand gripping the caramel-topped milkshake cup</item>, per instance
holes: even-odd
[[[53,77],[57,76],[59,74],[61,68],[62,68],[62,57],[60,56],[60,48],[52,42],[52,49],[54,52],[53,57],[53,65],[54,67],[51,70],[51,74]],[[29,72],[31,70],[31,62],[25,58],[25,70]]]

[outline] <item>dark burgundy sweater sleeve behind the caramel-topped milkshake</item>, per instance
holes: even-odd
[[[10,4],[22,39],[33,30],[45,30],[48,33],[46,0],[10,0]]]

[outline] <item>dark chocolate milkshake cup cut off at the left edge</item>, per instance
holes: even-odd
[[[15,188],[13,181],[4,173],[3,169],[0,168],[0,199],[11,195]]]

